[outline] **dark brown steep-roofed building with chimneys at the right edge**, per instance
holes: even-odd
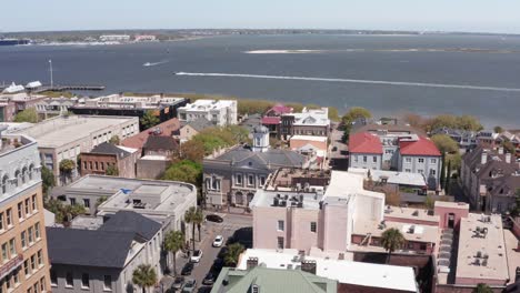
[[[477,146],[463,155],[460,179],[473,209],[504,213],[516,204],[520,163],[502,148]]]

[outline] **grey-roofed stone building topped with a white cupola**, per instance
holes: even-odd
[[[307,158],[293,151],[271,149],[269,130],[256,127],[253,144],[234,148],[203,160],[203,194],[211,206],[248,206],[279,168],[307,166]]]

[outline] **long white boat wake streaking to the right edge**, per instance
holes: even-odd
[[[173,74],[176,74],[176,75],[187,75],[187,77],[221,77],[221,78],[244,78],[244,79],[304,80],[304,81],[324,81],[324,82],[346,82],[346,83],[366,83],[366,84],[368,83],[368,84],[382,84],[382,85],[400,85],[400,87],[443,88],[443,89],[477,90],[477,91],[520,92],[520,89],[518,89],[518,88],[500,88],[500,87],[486,87],[486,85],[472,85],[472,84],[449,84],[449,83],[430,83],[430,82],[412,82],[412,81],[282,77],[282,75],[237,74],[237,73],[201,73],[201,72],[176,72]]]

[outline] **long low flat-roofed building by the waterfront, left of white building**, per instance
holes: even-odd
[[[70,107],[69,110],[79,115],[116,115],[138,117],[139,120],[149,111],[164,122],[177,117],[179,108],[186,105],[189,100],[178,97],[164,97],[163,94],[132,97],[124,94],[110,94],[96,99],[84,100]],[[141,125],[141,131],[144,130]]]

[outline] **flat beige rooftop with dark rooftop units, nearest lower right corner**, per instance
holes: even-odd
[[[457,283],[462,283],[459,279],[499,281],[509,279],[506,255],[500,215],[470,213],[468,218],[461,219]]]

